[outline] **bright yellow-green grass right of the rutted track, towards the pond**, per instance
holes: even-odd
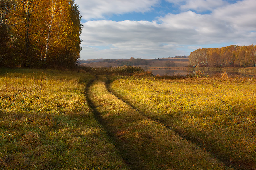
[[[256,168],[255,78],[120,78],[111,89],[237,169]]]

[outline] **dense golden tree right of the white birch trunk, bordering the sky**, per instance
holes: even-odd
[[[48,62],[51,64],[72,67],[79,59],[81,50],[80,34],[82,32],[82,24],[80,11],[75,1],[68,1],[63,6],[61,13],[61,25],[58,27],[57,37],[49,54]]]

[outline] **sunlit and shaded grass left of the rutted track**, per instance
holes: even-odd
[[[0,69],[0,169],[127,169],[86,101],[93,78]]]

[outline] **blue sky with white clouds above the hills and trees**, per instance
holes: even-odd
[[[81,59],[188,56],[256,45],[255,0],[75,0]]]

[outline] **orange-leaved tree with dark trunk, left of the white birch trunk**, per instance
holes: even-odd
[[[42,4],[40,0],[18,0],[13,10],[16,46],[23,66],[31,66],[38,60],[38,43],[43,37]]]

